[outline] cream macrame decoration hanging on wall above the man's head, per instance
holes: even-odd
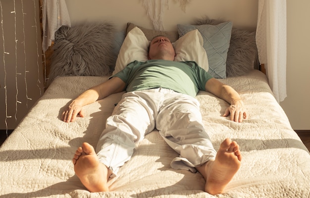
[[[185,12],[185,8],[191,0],[174,0],[179,1],[182,10]],[[151,18],[154,29],[163,31],[162,16],[164,7],[169,8],[168,0],[142,0],[143,6],[147,10],[148,16]]]

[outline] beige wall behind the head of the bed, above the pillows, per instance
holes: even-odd
[[[158,0],[159,1],[159,0]],[[255,29],[257,23],[257,2],[254,0],[191,0],[184,13],[176,0],[169,0],[164,9],[165,30],[176,30],[177,23],[189,23],[194,19],[227,18],[237,27]],[[72,24],[85,20],[108,20],[123,29],[127,22],[153,28],[142,0],[66,0]]]

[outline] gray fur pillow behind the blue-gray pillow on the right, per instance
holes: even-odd
[[[217,25],[225,20],[200,19],[194,25]],[[256,46],[256,32],[232,28],[226,61],[226,76],[246,75],[254,68],[258,68],[258,49]]]

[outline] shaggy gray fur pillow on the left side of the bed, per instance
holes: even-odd
[[[62,26],[55,33],[48,84],[57,76],[104,76],[112,72],[114,25],[109,22]]]

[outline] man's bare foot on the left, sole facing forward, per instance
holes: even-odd
[[[73,156],[75,174],[90,192],[109,191],[107,179],[109,169],[97,157],[92,145],[84,142],[78,147]]]

